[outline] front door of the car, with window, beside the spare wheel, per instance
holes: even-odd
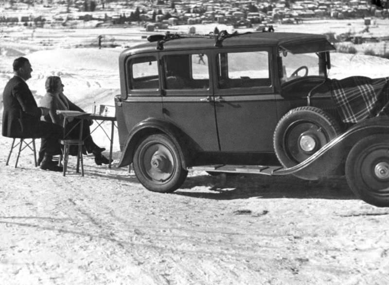
[[[223,49],[213,56],[222,152],[272,152],[277,124],[271,49]]]

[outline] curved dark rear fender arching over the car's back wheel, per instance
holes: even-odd
[[[157,118],[147,118],[135,125],[129,132],[124,143],[122,156],[118,167],[130,164],[133,160],[135,149],[140,140],[151,134],[164,133],[177,145],[182,166],[186,168],[191,163],[191,155],[188,146],[193,146],[192,140],[173,123]],[[193,150],[193,148],[191,148]]]

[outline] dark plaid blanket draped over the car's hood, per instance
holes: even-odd
[[[331,79],[330,90],[344,123],[389,115],[389,77]]]

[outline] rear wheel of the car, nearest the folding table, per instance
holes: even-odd
[[[141,141],[134,153],[133,166],[141,184],[159,193],[174,192],[188,175],[176,144],[165,134],[150,135]]]

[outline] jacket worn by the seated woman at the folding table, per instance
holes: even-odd
[[[71,111],[80,111],[84,112],[83,109],[71,102],[68,97],[64,94],[59,95],[60,98],[53,95],[52,93],[46,93],[45,96],[40,100],[40,106],[49,109],[49,114],[44,116],[46,122],[52,122],[57,125],[63,124],[63,116],[58,115],[56,110],[71,110]],[[62,102],[60,102],[60,100]]]

